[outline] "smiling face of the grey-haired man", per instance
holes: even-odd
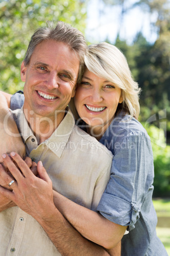
[[[79,59],[69,46],[53,40],[36,46],[27,67],[22,63],[21,78],[25,82],[24,111],[33,110],[39,117],[55,118],[74,97],[79,72]]]

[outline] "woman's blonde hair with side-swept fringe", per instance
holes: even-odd
[[[138,118],[141,89],[138,87],[138,83],[134,82],[126,57],[121,50],[109,43],[90,45],[84,57],[84,68],[101,78],[107,79],[121,89],[123,101],[117,106],[115,115],[123,111],[131,117]],[[75,118],[78,118],[73,100],[69,106]]]

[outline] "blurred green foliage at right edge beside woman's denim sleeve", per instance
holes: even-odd
[[[166,145],[163,129],[155,125],[144,127],[150,136],[154,154],[154,197],[170,197],[170,146]]]

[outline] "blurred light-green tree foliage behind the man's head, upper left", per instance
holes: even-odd
[[[23,87],[20,64],[30,36],[47,20],[62,20],[80,31],[86,27],[82,0],[0,0],[0,89],[14,93]]]

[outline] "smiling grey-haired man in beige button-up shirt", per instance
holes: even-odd
[[[63,22],[31,38],[21,66],[25,101],[13,116],[39,176],[17,153],[3,154],[11,174],[0,164],[0,255],[108,255],[82,238],[53,203],[54,189],[96,210],[110,176],[112,154],[67,112],[85,51],[81,32]]]

